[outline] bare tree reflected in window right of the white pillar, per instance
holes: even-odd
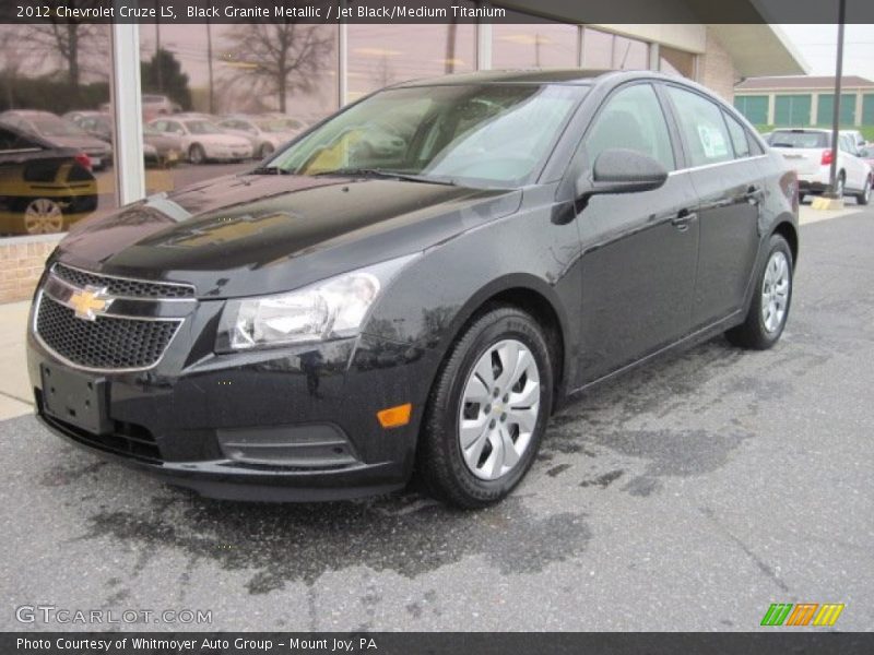
[[[334,35],[321,25],[249,23],[227,36],[222,58],[233,80],[253,93],[275,94],[280,111],[294,91],[310,91],[333,52]]]

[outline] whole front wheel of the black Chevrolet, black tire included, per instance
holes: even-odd
[[[517,366],[505,376],[513,355]],[[427,490],[464,509],[504,499],[538,454],[552,398],[550,347],[538,322],[515,307],[481,313],[450,348],[425,410],[417,473]]]

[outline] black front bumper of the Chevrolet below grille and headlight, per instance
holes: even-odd
[[[82,370],[32,329],[39,419],[92,452],[211,498],[335,500],[406,484],[429,379],[415,348],[362,335],[214,354],[210,326],[222,305],[201,302],[165,356],[142,371]],[[59,418],[58,401],[49,410],[47,394],[71,376],[99,388],[101,428]],[[57,391],[63,407],[67,390]],[[382,428],[376,413],[405,403],[410,422]]]

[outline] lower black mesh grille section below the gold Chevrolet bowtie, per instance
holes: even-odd
[[[56,354],[95,369],[154,366],[170,343],[179,321],[143,321],[101,317],[84,321],[48,296],[36,314],[36,333]]]

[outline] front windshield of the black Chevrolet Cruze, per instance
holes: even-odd
[[[519,186],[538,172],[586,91],[528,84],[388,90],[329,119],[270,166],[295,175],[376,169]]]

